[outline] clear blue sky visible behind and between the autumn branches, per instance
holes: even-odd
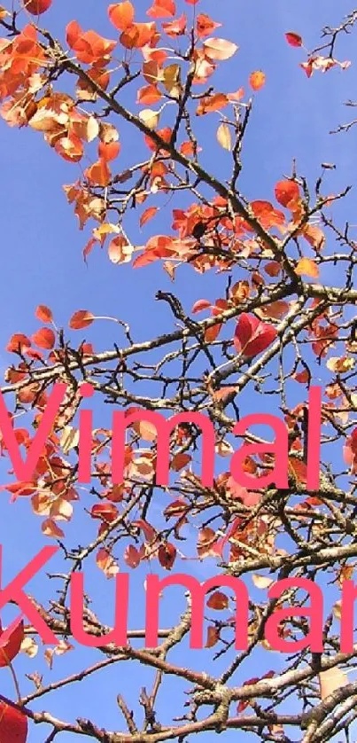
[[[304,37],[307,47],[314,46],[319,30],[329,23],[334,25],[342,16],[353,9],[352,2],[340,0],[202,0],[202,12],[212,15],[223,26],[219,35],[239,44],[239,51],[233,63],[221,65],[216,75],[219,90],[237,90],[246,85],[248,75],[255,69],[263,69],[267,74],[266,87],[257,95],[252,113],[252,121],[244,145],[244,172],[241,188],[249,199],[272,199],[274,184],[283,175],[291,172],[291,161],[295,157],[299,173],[304,174],[313,184],[321,173],[323,161],[338,163],[338,170],[327,183],[330,191],[342,190],[353,184],[357,166],[356,137],[357,128],[348,137],[330,136],[341,121],[348,119],[351,110],[344,109],[343,103],[353,97],[356,89],[356,73],[352,66],[345,72],[332,70],[329,74],[314,74],[311,80],[299,68],[304,53],[294,50],[284,40],[286,31],[297,31]],[[147,4],[137,0],[139,11]],[[48,22],[55,35],[64,38],[64,27],[69,20],[79,20],[85,28],[94,27],[97,31],[115,37],[113,27],[106,18],[106,3],[97,0],[53,0],[53,6],[43,21]],[[338,46],[338,59],[351,59],[355,37],[346,37]],[[227,74],[227,70],[229,73]],[[229,79],[228,79],[229,75]],[[216,121],[215,121],[216,123]],[[119,123],[120,129],[120,123]],[[229,155],[218,146],[212,146],[213,129],[203,119],[198,122],[200,143],[204,146],[203,160],[215,174],[225,178],[229,174]],[[83,263],[81,251],[88,231],[77,229],[72,208],[66,203],[62,184],[73,183],[79,176],[78,167],[61,160],[43,143],[41,135],[28,130],[9,129],[0,122],[1,164],[3,177],[0,185],[0,204],[2,220],[2,262],[0,312],[0,348],[4,348],[12,332],[35,331],[35,307],[39,303],[53,309],[58,325],[65,325],[76,309],[89,309],[96,315],[120,317],[130,322],[137,340],[149,338],[153,332],[171,327],[171,318],[162,304],[154,300],[158,288],[172,290],[167,274],[158,264],[142,270],[131,270],[129,266],[115,267],[109,262],[105,251],[95,248],[89,256],[88,265]],[[123,134],[125,141],[125,134]],[[127,147],[128,147],[127,140]],[[130,153],[123,146],[123,167],[130,161]],[[334,207],[336,215],[344,218],[347,208],[351,214],[354,192],[342,206]],[[143,244],[152,233],[165,231],[167,211],[159,215],[155,224],[149,225],[141,233],[136,224],[136,214],[129,217],[128,229],[133,242]],[[214,300],[221,296],[224,278],[208,274],[198,276],[190,269],[178,272],[175,292],[181,297],[186,309],[200,297]],[[121,343],[120,328],[105,322],[97,323],[90,330],[90,340],[95,348],[112,346],[113,341]],[[5,352],[0,353],[2,369],[8,364]],[[96,410],[100,416],[100,410]],[[101,425],[102,420],[97,421]],[[3,481],[6,466],[2,466]],[[40,521],[30,512],[25,498],[9,506],[7,494],[0,500],[0,515],[3,528],[0,532],[4,544],[4,583],[11,575],[30,559],[40,544]],[[74,537],[81,541],[82,529],[76,524],[81,535]],[[91,531],[93,534],[93,531]],[[75,541],[74,538],[74,541]],[[196,564],[195,564],[196,565]],[[192,571],[201,572],[201,567]],[[203,568],[202,568],[203,571]],[[90,571],[89,571],[90,580]],[[113,585],[105,580],[94,578],[97,598],[105,599]],[[136,578],[132,607],[132,619],[140,612],[143,602],[141,583],[144,574]],[[41,594],[43,583],[36,585],[33,592]],[[103,617],[105,618],[105,617]],[[108,619],[109,621],[109,619]],[[140,622],[138,622],[139,624]],[[187,651],[186,651],[187,652]],[[193,657],[193,654],[196,657]],[[185,660],[198,669],[206,664],[207,653],[191,652]],[[68,669],[80,669],[86,662],[86,652],[78,650],[66,660],[55,661],[52,675],[42,661],[33,662],[31,669],[39,669],[46,679],[63,676]],[[173,656],[175,660],[175,654]],[[178,659],[176,658],[178,661]],[[28,672],[29,663],[16,661],[19,671]],[[269,653],[262,660],[262,667],[269,669]],[[209,668],[208,662],[208,668]],[[149,684],[151,674],[138,665],[118,665],[106,671],[98,684],[93,677],[78,691],[64,691],[50,697],[49,708],[53,714],[65,719],[75,716],[90,716],[99,724],[114,729],[122,729],[123,724],[115,704],[115,696],[125,690],[129,706],[137,708],[137,687]],[[267,667],[267,668],[266,668]],[[65,670],[66,669],[66,670]],[[260,670],[262,670],[261,668]],[[263,670],[264,670],[263,669]],[[252,669],[253,670],[253,669]],[[254,672],[252,675],[254,675]],[[12,693],[10,681],[5,679],[4,692]],[[3,679],[2,679],[3,681]],[[239,679],[236,679],[238,682]],[[23,684],[29,690],[30,684]],[[175,700],[182,692],[181,684],[166,682],[166,695],[159,697],[159,716],[163,714],[168,723],[169,714],[175,714]],[[40,700],[37,708],[45,708],[47,702]],[[140,719],[140,713],[139,713]],[[225,739],[237,740],[237,733],[227,732]],[[40,743],[45,738],[43,728],[31,729],[29,743]],[[205,740],[209,740],[209,734]],[[70,735],[61,738],[69,743]]]

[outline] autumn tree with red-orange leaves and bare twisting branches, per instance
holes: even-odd
[[[13,127],[35,130],[53,157],[74,164],[76,179],[65,192],[81,230],[90,230],[84,262],[101,247],[113,264],[130,264],[126,270],[149,271],[155,264],[158,283],[164,270],[172,291],[161,289],[156,299],[170,326],[158,334],[147,317],[144,340],[138,340],[130,307],[124,319],[97,317],[89,301],[87,309],[72,313],[65,330],[50,307],[38,304],[31,337],[15,332],[9,340],[12,359],[2,393],[16,433],[12,441],[3,407],[2,454],[14,471],[5,489],[13,501],[27,497],[41,518],[42,546],[58,548],[56,572],[46,577],[51,568],[43,560],[46,598],[33,599],[56,644],[43,646],[38,625],[28,617],[3,634],[1,673],[11,672],[16,694],[0,696],[0,739],[25,743],[38,730],[47,743],[66,739],[66,733],[103,743],[180,743],[194,733],[206,740],[223,731],[228,739],[237,731],[260,740],[299,737],[309,743],[342,732],[348,739],[357,702],[350,674],[356,651],[353,643],[341,649],[340,642],[342,622],[347,634],[353,622],[357,557],[357,243],[350,186],[338,191],[335,163],[316,163],[319,175],[311,185],[294,161],[288,175],[276,173],[274,196],[244,195],[244,145],[259,116],[256,101],[266,74],[254,69],[244,88],[230,90],[231,78],[220,73],[224,67],[238,79],[237,43],[221,28],[220,8],[216,20],[205,0],[104,4],[109,38],[88,30],[88,13],[86,28],[69,18],[58,40],[50,23],[57,3],[27,0],[0,10],[1,115]],[[353,11],[337,27],[325,27],[313,51],[298,31],[287,29],[283,41],[299,50],[308,78],[332,68],[335,74],[349,66],[335,54],[356,20]],[[299,61],[290,51],[292,68]],[[210,167],[207,151],[213,147],[216,157],[225,158],[224,176],[216,175],[221,162]],[[257,197],[258,192],[257,185]],[[347,220],[338,211],[345,202],[352,214]],[[175,291],[181,271],[195,288],[193,307]],[[201,298],[208,274],[220,287],[218,298],[211,289]],[[100,322],[119,326],[122,340],[98,351],[90,333]],[[322,387],[321,452],[315,387]],[[24,477],[16,447],[29,455],[56,390],[58,408],[34,472]],[[109,424],[105,414],[93,432],[91,400],[116,413]],[[252,419],[245,417],[260,409],[283,421],[286,457],[283,448],[269,450],[266,428],[251,430]],[[168,434],[159,431],[180,414]],[[214,430],[212,483],[199,471],[204,418]],[[166,434],[167,482],[159,475]],[[113,445],[122,455],[123,481],[113,476]],[[239,477],[226,459],[236,450]],[[12,504],[13,512],[17,507]],[[5,535],[2,542],[5,551]],[[206,586],[201,660],[188,647],[192,625],[199,624],[194,590],[183,601],[182,588],[165,588],[165,596],[177,600],[163,599],[167,626],[160,624],[159,645],[145,645],[143,629],[129,628],[128,643],[116,643],[113,635],[105,639],[113,606],[112,620],[105,619],[103,606],[91,602],[90,580],[84,589],[81,584],[93,562],[96,576],[102,571],[113,579],[105,584],[113,606],[113,584],[123,596],[126,575],[130,582],[140,575],[142,584],[143,569],[161,579],[173,576],[174,583],[177,572],[189,574],[198,566],[201,581],[218,575],[217,584]],[[93,580],[97,586],[99,578]],[[148,575],[151,598],[158,588],[154,580]],[[80,609],[84,601],[82,628],[81,616],[75,627],[71,622],[71,581]],[[285,583],[276,592],[277,581]],[[235,637],[236,604],[237,625],[244,627],[244,585],[251,594],[245,648],[236,646]],[[326,606],[320,639],[316,625],[313,642],[319,587]],[[10,598],[16,603],[19,596],[12,592]],[[283,614],[286,605],[289,614]],[[65,655],[56,663],[66,668],[79,652],[78,626],[86,644],[97,645],[87,647],[86,665],[65,670],[55,681],[50,671],[44,679],[34,673],[33,658],[43,654],[50,668],[57,655]],[[271,653],[273,636],[283,652]],[[20,650],[28,656],[27,679],[16,672]],[[53,713],[59,690],[68,687],[80,696],[92,677],[102,684],[106,669],[118,664],[120,670],[134,667],[137,701],[132,710],[122,678],[111,677],[108,700],[117,696],[121,716],[115,727],[92,719],[90,705],[85,719]],[[150,681],[143,686],[146,673]],[[173,690],[174,719],[165,714]],[[38,711],[43,704],[46,711]]]

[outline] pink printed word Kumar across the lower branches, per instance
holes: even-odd
[[[25,593],[24,586],[36,573],[43,568],[48,560],[58,551],[58,547],[43,547],[27,566],[19,572],[11,583],[0,590],[0,611],[8,602],[15,603],[22,614],[19,614],[12,624],[4,630],[0,636],[1,644],[4,645],[12,632],[17,628],[19,622],[23,621],[25,615],[35,631],[42,638],[43,643],[58,645],[58,638],[54,635],[50,626],[39,614],[35,603]],[[0,546],[0,559],[2,548]],[[190,591],[190,647],[202,649],[204,647],[203,629],[205,614],[205,599],[208,591],[213,588],[224,586],[233,590],[236,598],[235,617],[235,646],[237,650],[247,650],[249,646],[249,605],[250,598],[248,590],[242,580],[232,575],[217,575],[209,578],[204,583],[192,575],[179,573],[159,578],[159,575],[147,575],[146,597],[145,597],[145,646],[157,647],[159,643],[159,599],[162,591],[169,586],[181,586]],[[90,635],[84,628],[83,606],[84,606],[84,576],[83,573],[71,575],[71,595],[69,609],[69,624],[71,635],[79,644],[86,647],[103,647],[113,643],[116,647],[128,645],[128,605],[129,605],[129,575],[123,573],[115,576],[115,599],[114,599],[114,627],[105,635],[99,637]],[[281,653],[296,653],[305,648],[310,648],[313,653],[323,652],[323,596],[322,590],[314,581],[308,578],[285,578],[276,581],[268,590],[268,599],[283,602],[283,594],[287,590],[307,591],[311,598],[310,606],[289,606],[273,609],[265,623],[264,636],[268,640],[271,649]],[[354,601],[357,598],[357,584],[351,580],[342,583],[341,599],[341,637],[340,650],[342,653],[353,652],[353,613]],[[38,606],[38,605],[37,605]],[[287,640],[283,637],[282,623],[293,622],[294,617],[305,617],[309,622],[307,634],[299,640]],[[355,646],[354,646],[355,647]]]

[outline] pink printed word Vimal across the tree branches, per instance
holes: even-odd
[[[66,384],[58,382],[54,385],[43,416],[36,428],[35,435],[27,449],[27,457],[22,459],[12,420],[0,393],[0,432],[2,434],[3,450],[6,450],[12,462],[12,468],[18,481],[31,481],[36,465],[41,457],[45,442],[52,431],[58,411],[64,403]],[[91,397],[94,388],[85,383],[81,386],[82,397]],[[307,405],[307,489],[319,489],[320,449],[321,449],[321,387],[310,387]],[[126,433],[128,426],[136,422],[147,422],[155,427],[157,432],[156,455],[156,482],[158,485],[169,484],[170,467],[170,436],[175,426],[190,424],[198,426],[202,433],[202,472],[201,481],[207,488],[213,487],[215,434],[213,423],[200,412],[177,413],[171,418],[165,418],[158,412],[114,411],[113,438],[112,438],[112,481],[121,484],[124,481]],[[270,426],[275,433],[275,442],[243,443],[235,451],[230,460],[230,473],[233,479],[242,487],[248,489],[268,488],[275,484],[276,488],[287,489],[288,460],[289,460],[289,432],[283,420],[268,413],[254,413],[241,418],[234,426],[232,433],[244,436],[250,426]],[[78,482],[84,484],[91,480],[91,453],[92,453],[93,413],[81,410],[79,413],[79,463]],[[276,465],[267,474],[253,477],[244,471],[244,460],[248,456],[274,454]]]

